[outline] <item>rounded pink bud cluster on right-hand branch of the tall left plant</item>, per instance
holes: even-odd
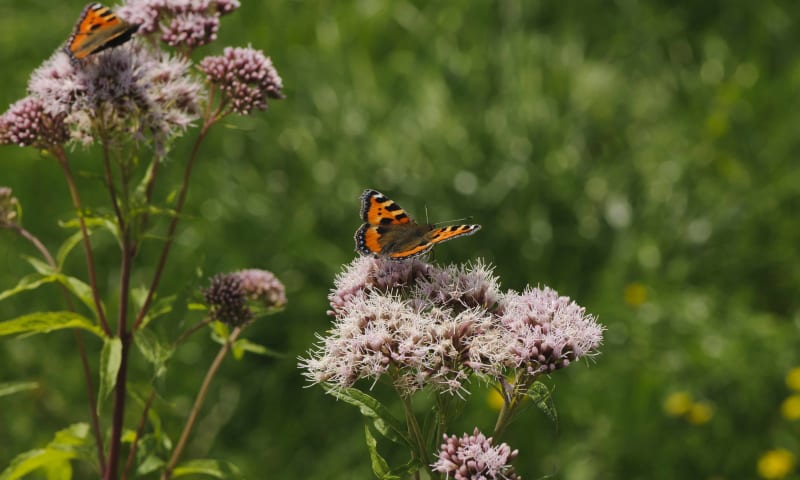
[[[222,90],[223,104],[238,114],[266,110],[267,98],[283,98],[283,81],[260,50],[227,47],[220,56],[204,58],[199,68]]]

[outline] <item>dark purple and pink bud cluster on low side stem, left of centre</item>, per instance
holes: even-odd
[[[215,275],[203,290],[212,319],[231,326],[241,326],[254,318],[251,305],[280,308],[286,305],[286,289],[272,272],[240,270]]]

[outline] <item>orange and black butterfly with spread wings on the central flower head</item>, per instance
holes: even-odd
[[[480,225],[420,225],[400,205],[370,189],[361,194],[361,219],[364,224],[356,231],[356,251],[395,260],[422,255],[435,243],[481,229]]]

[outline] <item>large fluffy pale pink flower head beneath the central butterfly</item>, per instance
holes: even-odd
[[[301,358],[314,383],[389,375],[403,394],[460,393],[472,374],[528,380],[596,353],[603,327],[549,288],[501,292],[482,262],[438,267],[361,257],[329,296],[334,326]]]

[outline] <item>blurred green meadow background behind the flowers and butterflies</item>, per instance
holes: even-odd
[[[798,423],[780,413],[800,363],[800,6],[242,3],[195,59],[252,44],[287,98],[212,130],[162,292],[195,291],[198,270],[272,270],[288,308],[247,333],[288,357],[229,359],[187,458],[231,460],[249,478],[370,478],[361,417],[304,388],[295,360],[329,325],[326,295],[355,255],[365,187],[419,220],[427,208],[432,221],[483,225],[437,248],[436,262],[482,257],[504,288],[549,285],[607,326],[596,362],[546,379],[557,423],[532,409],[504,439],[525,478],[752,478],[764,452],[800,452]],[[82,7],[0,0],[4,108]],[[162,198],[195,134],[177,142]],[[71,158],[101,207],[97,153]],[[71,233],[57,224],[74,213],[51,159],[2,148],[0,185],[51,249]],[[101,284],[115,291],[115,245],[96,237]],[[0,232],[0,290],[29,273],[21,255],[32,254]],[[56,308],[45,289],[0,303],[0,319]],[[158,408],[173,439],[216,350],[197,335],[171,363]],[[3,339],[0,363],[0,382],[40,382],[0,398],[0,465],[86,420],[69,333]],[[665,411],[669,398],[687,413]],[[489,431],[495,415],[476,385],[453,433]]]

